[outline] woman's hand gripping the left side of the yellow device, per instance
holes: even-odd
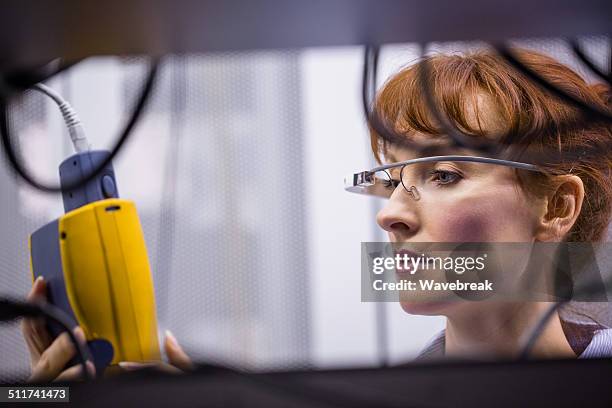
[[[45,301],[46,291],[47,285],[43,278],[39,277],[34,281],[27,300]],[[23,319],[21,331],[30,351],[32,374],[28,381],[74,381],[83,378],[80,364],[64,370],[66,364],[76,354],[68,333],[62,333],[52,341],[43,318]],[[80,327],[74,329],[74,335],[78,341],[85,344],[85,334]],[[96,370],[91,361],[87,362],[87,369],[93,377]]]

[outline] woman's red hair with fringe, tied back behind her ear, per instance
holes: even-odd
[[[520,60],[549,82],[571,95],[607,110],[609,88],[603,84],[589,85],[577,73],[555,59],[527,50],[515,50]],[[609,123],[587,124],[580,129],[563,130],[563,123],[580,115],[578,109],[567,105],[519,74],[493,51],[466,55],[436,55],[427,58],[430,88],[436,106],[462,132],[476,137],[491,137],[499,132],[487,125],[489,111],[481,111],[479,96],[487,97],[497,112],[496,123],[504,134],[530,135],[520,140],[533,151],[561,152],[591,148],[612,141]],[[422,133],[443,137],[444,132],[432,119],[426,96],[419,85],[418,64],[407,67],[391,77],[376,97],[374,109],[395,131],[411,137]],[[559,130],[561,129],[561,130]],[[374,129],[370,129],[372,151],[381,162],[381,154],[388,144]],[[585,188],[582,210],[565,237],[566,241],[590,242],[601,240],[606,233],[612,211],[612,153],[602,152],[597,157],[557,162],[555,174],[574,174]],[[556,176],[517,170],[521,187],[536,196],[555,188]]]

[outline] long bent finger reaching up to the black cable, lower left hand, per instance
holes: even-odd
[[[74,329],[79,341],[85,342],[85,335],[80,327]],[[66,366],[66,363],[75,355],[76,350],[68,333],[62,333],[47,348],[32,370],[30,381],[51,381],[57,377]]]

